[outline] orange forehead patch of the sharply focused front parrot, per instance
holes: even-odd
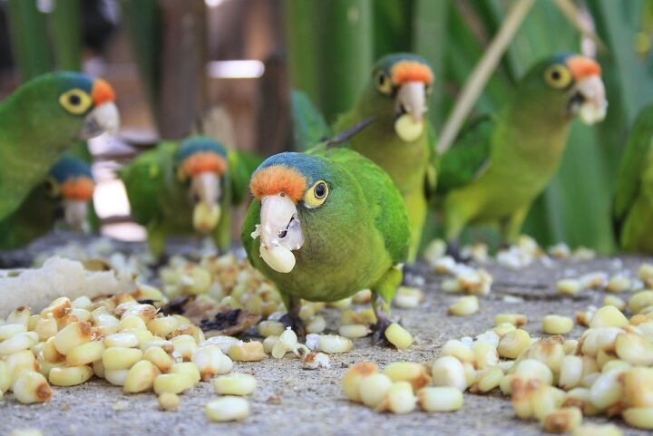
[[[255,172],[249,187],[257,199],[283,192],[297,202],[304,197],[306,183],[306,178],[296,170],[283,165],[273,165]]]

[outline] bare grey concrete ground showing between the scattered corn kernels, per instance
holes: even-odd
[[[235,371],[252,373],[258,388],[249,399],[251,413],[247,421],[213,423],[204,414],[204,405],[218,397],[210,383],[200,383],[191,392],[181,395],[179,412],[161,412],[152,393],[127,395],[122,390],[94,380],[72,388],[54,388],[52,402],[25,406],[7,393],[0,402],[0,436],[14,429],[36,428],[46,436],[55,435],[535,435],[541,434],[536,421],[517,420],[511,403],[501,394],[464,394],[464,406],[459,412],[412,412],[397,416],[377,413],[366,407],[347,402],[340,390],[340,380],[351,363],[373,361],[383,368],[395,361],[432,361],[440,347],[452,338],[481,334],[492,326],[493,316],[500,312],[520,312],[528,315],[525,328],[538,335],[544,315],[575,315],[588,305],[600,305],[604,292],[586,291],[574,298],[561,297],[555,292],[555,281],[562,276],[606,271],[615,274],[622,269],[636,273],[643,260],[653,259],[602,258],[588,262],[556,261],[545,267],[540,263],[510,271],[489,266],[494,276],[492,293],[482,297],[481,310],[476,315],[454,317],[447,307],[459,296],[439,292],[443,276],[427,273],[424,303],[413,310],[394,309],[404,326],[417,338],[405,353],[394,349],[373,347],[369,338],[355,341],[347,354],[331,355],[331,369],[308,371],[298,360],[286,357],[269,358],[258,363],[236,363]],[[623,263],[623,266],[621,264]],[[509,298],[518,296],[521,298]],[[623,296],[628,298],[628,295]],[[336,326],[336,311],[329,313],[330,325]],[[580,335],[577,328],[570,334]],[[612,420],[624,434],[650,434]],[[584,422],[605,423],[606,418],[586,418]]]

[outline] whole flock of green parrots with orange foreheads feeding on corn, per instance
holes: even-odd
[[[382,330],[429,208],[442,213],[453,256],[468,225],[496,223],[502,241],[512,242],[559,166],[571,121],[605,117],[600,73],[598,63],[578,54],[535,64],[502,111],[470,122],[440,156],[424,116],[432,69],[420,56],[396,53],[375,64],[355,106],[333,126],[305,94],[293,92],[297,151],[261,163],[191,136],[141,153],[119,176],[155,256],[178,234],[229,247],[231,208],[249,189],[242,243],[253,266],[278,285],[293,324],[299,298],[335,301],[370,288]],[[118,128],[113,101],[106,82],[60,72],[26,82],[0,102],[0,249],[49,231],[62,205],[66,221],[83,228],[93,177],[66,150]],[[630,133],[614,199],[624,250],[653,252],[652,146],[653,105]]]

